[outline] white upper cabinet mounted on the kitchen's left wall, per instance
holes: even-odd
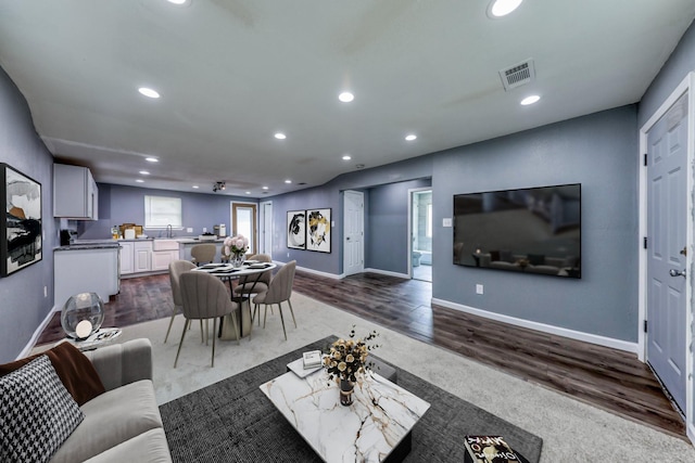
[[[53,165],[53,216],[97,220],[99,190],[87,167]]]

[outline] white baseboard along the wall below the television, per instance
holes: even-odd
[[[486,319],[496,320],[503,323],[513,324],[516,326],[528,327],[530,330],[540,331],[543,333],[554,334],[557,336],[568,337],[570,339],[582,340],[584,343],[596,344],[598,346],[610,347],[612,349],[624,350],[631,353],[637,353],[637,343],[629,343],[627,340],[615,339],[612,337],[598,336],[590,333],[582,333],[580,331],[568,330],[565,327],[553,326],[545,323],[533,322],[523,319],[517,319],[515,317],[503,316],[501,313],[490,312],[488,310],[477,309],[475,307],[464,306],[462,304],[451,303],[448,300],[432,298],[432,304],[438,306],[447,307],[454,310],[460,310],[478,317],[484,317]]]

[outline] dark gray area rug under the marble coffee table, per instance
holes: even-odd
[[[160,407],[175,462],[320,462],[258,388],[327,337]],[[394,365],[401,387],[431,403],[413,428],[406,462],[463,462],[463,437],[501,435],[538,463],[543,440]]]

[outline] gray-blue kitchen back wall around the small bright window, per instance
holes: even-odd
[[[181,198],[181,214],[184,228],[192,228],[192,232],[175,231],[176,236],[198,236],[207,228],[213,233],[215,224],[225,223],[227,234],[231,234],[229,221],[230,203],[254,203],[255,200],[240,196],[229,196],[213,193],[184,193],[167,190],[153,190],[137,187],[125,187],[98,183],[99,187],[99,220],[77,221],[78,237],[81,240],[98,240],[111,237],[111,227],[122,223],[144,224],[144,196],[168,196]],[[71,226],[73,222],[71,221]],[[72,227],[71,227],[72,228]],[[147,231],[146,231],[147,232]],[[153,236],[152,232],[149,232]]]

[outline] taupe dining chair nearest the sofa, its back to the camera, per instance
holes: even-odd
[[[215,366],[215,338],[217,337],[217,319],[231,314],[231,322],[239,344],[239,330],[237,324],[237,303],[229,298],[227,286],[217,279],[205,272],[185,272],[180,275],[181,303],[186,324],[181,333],[181,342],[176,351],[174,368],[178,363],[178,356],[181,352],[184,337],[191,320],[213,319],[213,357],[212,366]],[[210,335],[210,333],[207,333]]]

